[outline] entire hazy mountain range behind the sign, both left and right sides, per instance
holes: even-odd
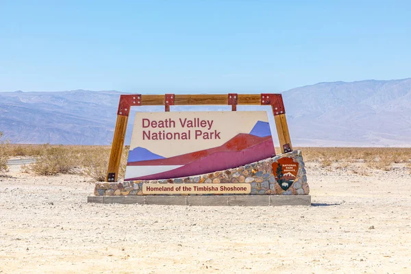
[[[14,143],[110,145],[122,93],[0,92],[0,131]],[[411,79],[319,83],[282,94],[294,146],[411,147]],[[223,109],[229,110],[201,110]],[[130,132],[131,126],[126,142]]]

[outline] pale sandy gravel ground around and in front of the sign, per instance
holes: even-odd
[[[411,175],[307,163],[312,206],[86,203],[84,177],[0,177],[0,273],[411,273]]]

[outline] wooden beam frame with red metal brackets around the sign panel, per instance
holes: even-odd
[[[286,120],[286,110],[284,108],[281,94],[263,93],[261,95],[238,95],[236,93],[229,93],[228,95],[121,95],[112,148],[110,151],[110,160],[108,162],[108,170],[105,177],[106,182],[117,182],[130,108],[132,106],[140,105],[164,105],[164,110],[166,112],[170,111],[170,105],[231,105],[232,111],[237,110],[237,105],[271,105],[281,152],[287,153],[292,151]]]

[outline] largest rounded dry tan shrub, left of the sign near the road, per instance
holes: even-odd
[[[75,173],[79,169],[77,153],[69,146],[42,145],[36,162],[28,169],[37,175],[55,175],[57,173]]]

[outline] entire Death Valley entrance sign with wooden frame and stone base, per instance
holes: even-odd
[[[123,181],[118,180],[132,106],[137,112]],[[170,112],[171,105],[231,105],[231,112]],[[271,105],[280,152],[267,113],[237,105]],[[214,206],[310,205],[301,151],[293,151],[282,95],[121,95],[106,182],[99,203]]]

